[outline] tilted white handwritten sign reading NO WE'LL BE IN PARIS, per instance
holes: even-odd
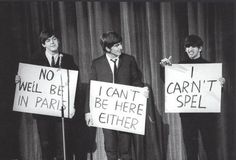
[[[14,111],[71,118],[78,71],[19,64]]]

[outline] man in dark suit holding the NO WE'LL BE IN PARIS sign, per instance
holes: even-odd
[[[44,30],[40,34],[40,42],[44,52],[31,60],[32,64],[48,67],[78,70],[73,57],[59,52],[59,39],[51,30]],[[73,110],[73,113],[75,110]],[[62,160],[63,142],[61,118],[45,115],[34,115],[36,118],[43,160]],[[72,160],[72,122],[65,119],[65,141],[67,160]]]

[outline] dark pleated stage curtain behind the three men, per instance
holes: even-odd
[[[226,79],[217,139],[221,147],[216,154],[221,160],[236,159],[235,3],[0,2],[0,21],[1,108],[12,107],[18,63],[39,54],[38,36],[43,27],[53,27],[60,33],[61,50],[74,56],[84,85],[88,84],[92,59],[103,54],[99,36],[108,30],[122,35],[125,52],[135,56],[144,82],[151,89],[146,135],[134,137],[136,160],[185,159],[179,114],[164,113],[164,82],[160,79],[159,62],[172,56],[173,63],[178,63],[184,56],[184,37],[200,35],[205,42],[203,57],[223,63]],[[83,107],[81,103],[79,108]],[[78,136],[86,139],[89,130],[84,128]],[[37,124],[30,114],[21,114],[18,135],[23,160],[41,160]],[[84,146],[88,144],[83,142]],[[96,142],[93,159],[106,160],[100,129]],[[204,148],[200,147],[200,151],[201,160],[206,160]]]

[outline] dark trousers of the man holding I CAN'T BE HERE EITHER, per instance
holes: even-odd
[[[105,151],[108,160],[131,160],[131,135],[125,132],[103,129]]]

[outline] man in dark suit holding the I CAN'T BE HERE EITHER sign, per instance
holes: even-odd
[[[93,60],[91,80],[113,82],[124,85],[143,87],[140,71],[133,56],[122,53],[122,38],[116,32],[104,33],[100,43],[104,55]],[[148,89],[144,87],[144,94],[148,96]],[[87,125],[92,124],[89,107],[86,108],[85,119]],[[131,160],[131,134],[109,129],[103,129],[105,151],[108,160]]]

